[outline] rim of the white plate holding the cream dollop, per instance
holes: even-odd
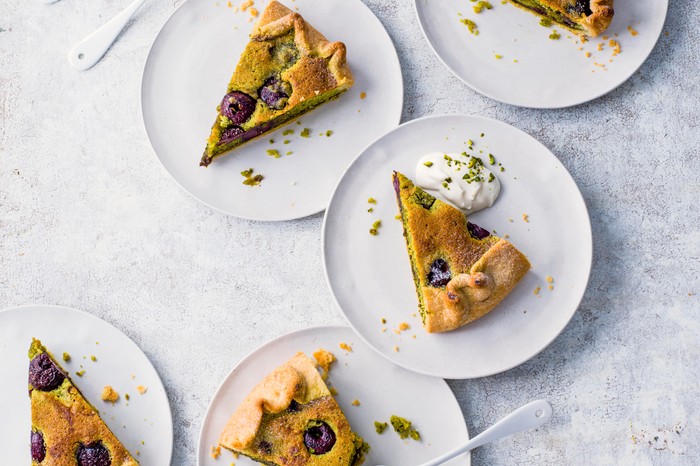
[[[584,266],[583,266],[583,268],[587,269],[586,283],[581,289],[580,296],[576,299],[577,304],[576,304],[575,308],[571,312],[571,315],[566,320],[564,325],[562,325],[561,329],[556,333],[556,335],[553,335],[552,338],[549,339],[546,342],[546,344],[544,344],[542,346],[542,348],[540,348],[538,351],[536,351],[535,353],[533,353],[529,356],[526,356],[525,358],[518,358],[517,362],[509,365],[508,367],[501,368],[498,370],[484,371],[483,373],[475,373],[475,374],[467,374],[467,375],[465,375],[464,372],[460,372],[459,375],[457,375],[457,374],[453,374],[453,373],[448,374],[448,373],[444,373],[444,372],[420,370],[420,369],[417,369],[415,367],[411,367],[410,365],[402,362],[401,360],[391,358],[390,356],[392,356],[392,355],[390,353],[385,353],[385,352],[381,351],[380,348],[375,347],[369,341],[369,339],[365,338],[365,336],[362,334],[362,332],[360,332],[355,327],[353,322],[350,321],[346,312],[343,310],[342,306],[340,305],[340,302],[338,301],[338,297],[336,296],[336,293],[335,293],[333,285],[332,285],[331,277],[328,273],[328,261],[327,261],[327,248],[328,248],[328,244],[330,243],[330,241],[327,240],[327,226],[328,226],[328,219],[330,218],[330,215],[328,212],[330,212],[330,210],[333,208],[333,204],[336,201],[336,194],[338,194],[338,192],[340,191],[340,187],[341,187],[343,180],[345,179],[345,176],[347,175],[348,171],[350,171],[350,169],[355,165],[355,163],[360,159],[360,157],[362,157],[362,155],[365,152],[367,152],[367,150],[371,146],[375,145],[381,139],[387,137],[389,134],[391,134],[395,131],[398,131],[400,128],[403,128],[404,126],[409,126],[409,125],[414,125],[414,124],[422,124],[424,121],[427,121],[427,120],[439,120],[439,119],[443,119],[443,118],[455,118],[455,117],[456,118],[476,119],[476,120],[486,120],[486,121],[496,122],[498,124],[509,126],[510,128],[522,133],[523,135],[525,135],[526,137],[528,137],[530,139],[533,139],[539,145],[544,147],[547,150],[547,152],[557,162],[559,162],[561,167],[564,169],[564,175],[568,176],[568,178],[570,179],[570,181],[573,183],[574,187],[576,188],[576,194],[577,194],[576,195],[576,202],[580,203],[581,206],[583,207],[583,213],[585,213],[586,225],[588,226],[588,228],[586,229],[587,234],[584,234],[584,238],[586,240],[585,246],[588,249],[588,253],[586,254],[587,261],[586,261],[586,264],[584,264]],[[514,369],[515,367],[518,367],[518,366],[526,363],[527,361],[535,358],[537,355],[539,355],[541,352],[543,352],[545,349],[547,349],[554,342],[554,340],[556,340],[564,332],[566,327],[569,326],[571,319],[573,319],[574,315],[576,315],[576,312],[578,311],[579,307],[581,306],[581,302],[583,301],[583,297],[585,296],[586,291],[588,290],[588,285],[589,285],[590,279],[591,279],[591,270],[593,267],[593,229],[591,227],[591,217],[590,217],[590,214],[588,212],[588,206],[586,205],[586,200],[584,199],[583,194],[581,193],[581,190],[578,187],[578,184],[576,183],[576,180],[574,180],[573,176],[571,176],[571,173],[564,166],[564,164],[561,163],[561,160],[559,160],[559,158],[547,146],[545,146],[542,142],[540,142],[537,138],[535,138],[534,136],[530,135],[529,133],[523,131],[522,129],[517,128],[516,126],[511,125],[510,123],[506,123],[505,121],[498,120],[496,118],[484,117],[484,116],[478,116],[478,115],[469,115],[469,114],[465,114],[465,113],[446,113],[446,114],[426,115],[426,116],[416,118],[414,120],[410,120],[410,121],[407,121],[405,123],[402,123],[401,125],[397,126],[396,128],[392,129],[391,131],[388,131],[387,133],[379,136],[377,139],[372,141],[367,147],[365,147],[362,150],[362,152],[360,152],[357,155],[357,157],[355,157],[355,160],[353,160],[352,163],[350,163],[350,165],[348,165],[348,167],[343,172],[343,175],[338,180],[338,184],[336,184],[336,187],[333,190],[333,195],[330,198],[327,210],[328,211],[326,212],[326,215],[323,216],[323,224],[321,227],[321,254],[323,256],[323,261],[322,261],[323,262],[323,275],[326,279],[326,286],[328,287],[328,290],[330,291],[333,302],[335,303],[336,307],[340,311],[340,314],[345,319],[345,322],[350,326],[350,328],[353,330],[353,332],[355,332],[355,334],[363,342],[365,342],[365,344],[367,344],[367,346],[369,346],[374,351],[379,353],[382,357],[391,361],[393,364],[396,364],[399,367],[403,367],[404,369],[407,369],[407,370],[410,370],[413,372],[417,372],[419,374],[428,375],[428,376],[432,376],[432,377],[439,377],[439,378],[443,378],[443,379],[467,380],[467,379],[478,379],[478,378],[482,378],[482,377],[490,377],[490,376],[493,376],[496,374],[501,374],[503,372],[507,372],[511,369]]]

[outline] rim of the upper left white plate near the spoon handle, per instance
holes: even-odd
[[[256,217],[252,217],[252,216],[247,216],[247,215],[234,214],[232,212],[226,211],[223,208],[219,208],[219,207],[212,205],[211,203],[202,199],[200,196],[189,191],[187,188],[185,188],[185,186],[182,183],[180,183],[180,181],[177,178],[175,178],[173,173],[166,168],[166,166],[163,163],[163,160],[161,158],[161,155],[156,151],[156,148],[153,144],[153,138],[151,137],[151,133],[148,131],[148,125],[146,124],[146,110],[144,107],[146,74],[148,72],[149,63],[151,62],[152,56],[154,55],[154,49],[155,49],[156,42],[158,41],[158,38],[160,37],[161,33],[163,32],[163,29],[165,29],[165,27],[175,17],[175,15],[179,12],[179,10],[181,8],[183,8],[185,5],[187,5],[188,3],[190,3],[190,1],[197,1],[197,0],[185,0],[184,2],[182,2],[180,5],[178,5],[177,8],[175,8],[175,10],[173,10],[173,12],[170,14],[170,16],[168,16],[165,19],[165,21],[163,22],[163,24],[158,28],[158,32],[156,33],[155,37],[153,38],[153,41],[151,42],[151,45],[148,48],[148,54],[146,54],[146,60],[144,60],[143,67],[141,69],[141,80],[139,83],[139,107],[141,110],[139,112],[139,114],[141,116],[141,128],[143,128],[143,130],[146,133],[146,138],[148,139],[148,144],[151,147],[152,152],[155,154],[156,159],[158,160],[158,163],[160,164],[161,169],[164,170],[168,174],[170,179],[173,180],[175,182],[175,184],[183,192],[188,194],[190,197],[195,199],[197,202],[209,207],[210,209],[213,209],[216,212],[222,213],[222,214],[227,215],[227,216],[235,217],[235,218],[240,218],[242,220],[248,220],[248,221],[254,221],[254,222],[266,222],[266,223],[267,222],[287,222],[290,220],[299,220],[299,219],[303,219],[303,218],[308,218],[308,217],[311,217],[313,215],[317,215],[321,212],[324,212],[328,208],[328,205],[330,203],[330,197],[326,200],[325,205],[321,209],[315,210],[314,212],[310,212],[310,213],[304,213],[302,215],[285,215],[285,216],[280,216],[280,217],[276,217],[273,219],[261,219],[261,218],[256,218]],[[344,1],[347,1],[347,0],[344,0]],[[399,59],[399,53],[396,50],[396,45],[394,44],[393,39],[389,35],[389,31],[386,30],[384,23],[382,23],[379,20],[379,17],[374,13],[374,11],[372,11],[371,8],[369,8],[367,5],[365,5],[364,2],[362,2],[362,0],[351,0],[351,1],[354,1],[356,4],[364,7],[377,20],[377,23],[379,24],[382,31],[384,32],[384,35],[386,36],[386,38],[389,40],[389,43],[391,44],[391,50],[393,51],[393,54],[391,54],[391,57],[395,60],[396,64],[398,65],[398,68],[399,68],[399,74],[398,74],[399,83],[398,84],[400,84],[400,85],[397,87],[401,90],[401,99],[400,99],[401,103],[397,109],[398,115],[396,118],[396,123],[394,124],[394,128],[395,128],[401,123],[401,117],[403,115],[403,108],[405,106],[405,98],[406,98],[405,85],[404,85],[405,83],[404,83],[404,78],[403,78],[403,68],[401,66],[401,60]],[[355,157],[353,157],[349,163],[352,163],[354,160],[355,160]],[[341,173],[341,177],[342,177],[342,174],[344,174],[344,173],[345,173],[345,170],[343,170],[343,172]]]

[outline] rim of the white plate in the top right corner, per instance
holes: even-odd
[[[662,0],[662,1],[666,2],[664,5],[665,6],[665,8],[664,8],[664,21],[661,25],[661,28],[659,28],[658,35],[656,36],[656,38],[654,38],[653,42],[651,42],[651,47],[649,47],[649,51],[644,55],[644,58],[642,60],[640,60],[639,64],[636,67],[634,67],[634,69],[630,70],[629,74],[627,74],[624,78],[622,78],[619,83],[615,84],[610,89],[603,91],[602,93],[595,93],[595,95],[593,95],[592,97],[577,100],[577,101],[574,101],[573,103],[564,103],[561,105],[524,105],[522,103],[512,102],[510,99],[504,99],[501,97],[497,97],[490,92],[486,92],[485,90],[480,89],[480,86],[477,86],[473,83],[470,83],[464,77],[462,77],[459,73],[457,73],[451,66],[449,66],[445,62],[445,60],[442,58],[442,56],[438,53],[437,49],[435,48],[435,45],[428,37],[428,33],[426,32],[425,26],[423,24],[423,19],[421,17],[420,12],[418,11],[418,2],[420,2],[420,1],[422,1],[422,0],[413,0],[413,11],[416,14],[416,19],[418,20],[418,25],[420,27],[421,32],[423,33],[423,38],[428,43],[430,50],[433,51],[433,54],[438,58],[440,63],[442,63],[442,65],[445,68],[447,68],[447,70],[450,73],[452,73],[452,75],[454,77],[456,77],[457,79],[462,81],[464,84],[466,84],[474,92],[481,94],[484,97],[487,97],[489,99],[495,100],[496,102],[501,102],[501,103],[504,103],[506,105],[512,105],[512,106],[517,107],[517,108],[534,108],[534,109],[540,109],[540,110],[558,110],[558,109],[571,108],[571,107],[583,105],[585,103],[592,102],[596,99],[599,99],[607,94],[610,94],[615,89],[619,88],[620,86],[625,84],[627,81],[629,81],[629,79],[632,76],[634,76],[634,74],[642,67],[642,65],[644,65],[644,63],[647,62],[647,60],[649,59],[649,56],[651,55],[651,53],[654,51],[657,44],[659,43],[659,39],[661,38],[661,34],[663,33],[663,30],[664,30],[663,26],[666,24],[666,19],[668,18],[668,6],[669,6],[669,0]],[[657,0],[655,0],[655,1],[657,1]]]

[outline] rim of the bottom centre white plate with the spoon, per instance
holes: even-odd
[[[344,172],[343,172],[343,173],[344,173]],[[296,330],[291,330],[291,331],[289,331],[289,332],[285,332],[285,333],[283,333],[283,334],[281,334],[281,335],[277,335],[276,337],[274,337],[274,338],[272,338],[272,339],[270,339],[270,340],[267,340],[267,341],[264,342],[262,345],[259,345],[259,346],[255,347],[254,349],[252,349],[251,351],[249,351],[245,356],[243,356],[241,359],[239,359],[239,360],[236,362],[236,364],[231,368],[231,370],[223,377],[223,379],[221,380],[221,383],[219,384],[219,387],[216,389],[216,391],[214,392],[214,394],[211,396],[211,399],[209,400],[209,404],[207,405],[207,410],[206,410],[206,412],[204,413],[204,416],[202,417],[201,426],[200,426],[200,428],[199,428],[199,437],[198,437],[198,439],[197,439],[197,452],[196,452],[196,455],[197,455],[197,458],[196,458],[197,463],[196,463],[196,466],[202,466],[202,463],[201,463],[201,461],[200,461],[200,453],[201,453],[201,451],[206,452],[206,449],[205,449],[205,450],[201,450],[201,448],[202,448],[202,446],[203,446],[203,442],[204,442],[204,428],[205,428],[205,425],[206,425],[207,418],[209,417],[209,412],[210,412],[210,410],[211,410],[211,408],[212,408],[212,405],[214,404],[214,400],[216,400],[216,399],[219,397],[219,394],[220,394],[221,391],[224,389],[224,384],[225,384],[226,381],[229,379],[229,377],[231,377],[231,376],[233,375],[233,373],[238,369],[238,367],[239,367],[240,365],[242,365],[242,364],[248,362],[248,360],[252,359],[252,358],[254,357],[254,355],[255,355],[258,351],[262,351],[263,349],[266,349],[266,348],[268,348],[268,347],[270,347],[270,346],[273,346],[274,344],[277,344],[279,340],[282,340],[282,339],[285,339],[285,338],[290,338],[290,337],[295,336],[295,335],[298,336],[298,335],[301,335],[301,334],[304,334],[304,333],[313,333],[313,332],[328,331],[328,330],[349,330],[350,332],[352,332],[352,333],[355,334],[356,336],[360,336],[359,333],[357,333],[357,331],[354,329],[354,327],[352,327],[352,326],[350,326],[350,325],[338,325],[338,324],[336,324],[336,325],[312,325],[311,327],[299,328],[299,329],[296,329]],[[364,342],[364,339],[363,339],[362,337],[360,337],[360,339]],[[368,348],[371,348],[371,349],[374,349],[371,345],[367,345],[367,347],[368,347]],[[394,363],[393,361],[390,361],[390,360],[389,360],[388,362],[389,362],[390,364],[394,364],[394,365],[396,365],[396,366],[398,366],[398,367],[401,367],[401,366],[399,366],[398,364]],[[404,368],[404,369],[405,369],[405,368]],[[411,371],[411,372],[414,372],[414,373],[415,373],[415,371]],[[420,374],[420,375],[426,375],[426,376],[427,376],[427,374]],[[442,383],[442,384],[447,388],[447,390],[449,390],[450,393],[452,393],[452,399],[453,399],[453,401],[457,404],[457,406],[459,406],[459,401],[457,400],[457,397],[455,396],[454,391],[452,391],[452,389],[450,388],[450,386],[447,384],[447,381],[446,381],[445,379],[443,379],[442,377],[433,377],[433,376],[430,376],[430,377],[434,378],[436,382]],[[461,406],[460,406],[460,409],[461,409]],[[461,411],[460,411],[460,412],[461,412]],[[462,418],[464,419],[464,429],[465,429],[466,432],[467,432],[467,437],[468,437],[469,439],[471,439],[472,437],[471,437],[471,434],[470,434],[470,432],[469,432],[469,426],[467,425],[467,419],[464,417],[464,415],[462,415]],[[206,448],[206,447],[205,447],[205,448]],[[200,450],[201,450],[201,451],[200,451]],[[469,451],[469,452],[466,453],[465,458],[467,458],[467,460],[468,460],[467,466],[471,466],[471,451]]]

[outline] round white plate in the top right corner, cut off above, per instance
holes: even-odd
[[[492,10],[475,14],[474,4],[464,0],[415,0],[428,42],[459,79],[485,96],[534,108],[577,105],[627,81],[654,48],[668,9],[668,0],[615,0],[608,30],[582,44],[564,28],[540,26],[539,17],[527,11],[490,3]],[[460,22],[465,18],[477,24],[478,35]],[[633,36],[630,26],[639,34]],[[549,39],[554,30],[561,39]],[[622,53],[613,56],[610,39]]]

